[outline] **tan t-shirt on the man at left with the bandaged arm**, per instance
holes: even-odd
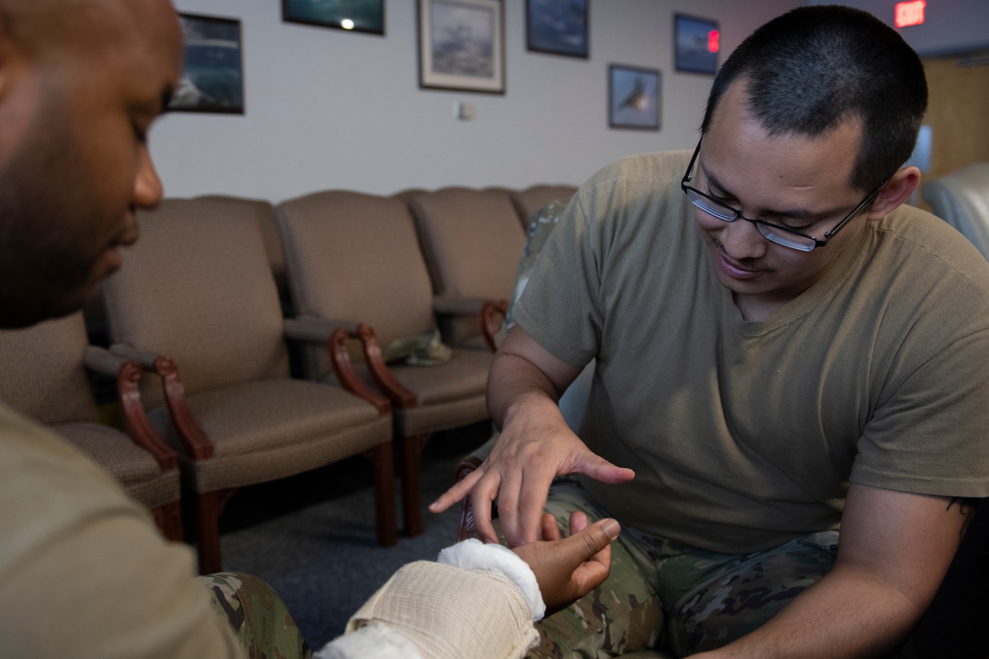
[[[193,565],[109,476],[0,405],[0,655],[242,657]]]

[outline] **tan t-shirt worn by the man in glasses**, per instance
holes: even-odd
[[[903,207],[746,322],[679,189],[689,157],[635,156],[585,183],[515,307],[558,358],[597,358],[582,438],[636,478],[584,479],[591,496],[622,523],[729,553],[837,528],[850,480],[989,496],[989,263],[975,247]]]

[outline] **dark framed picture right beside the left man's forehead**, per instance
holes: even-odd
[[[244,114],[240,21],[179,14],[185,63],[171,112]]]

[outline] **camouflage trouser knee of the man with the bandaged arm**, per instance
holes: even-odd
[[[230,624],[250,659],[310,659],[296,621],[271,586],[243,572],[196,577],[213,595],[213,609]]]

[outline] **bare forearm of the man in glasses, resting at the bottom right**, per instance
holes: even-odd
[[[881,657],[920,618],[923,605],[867,573],[836,567],[756,631],[704,659]]]

